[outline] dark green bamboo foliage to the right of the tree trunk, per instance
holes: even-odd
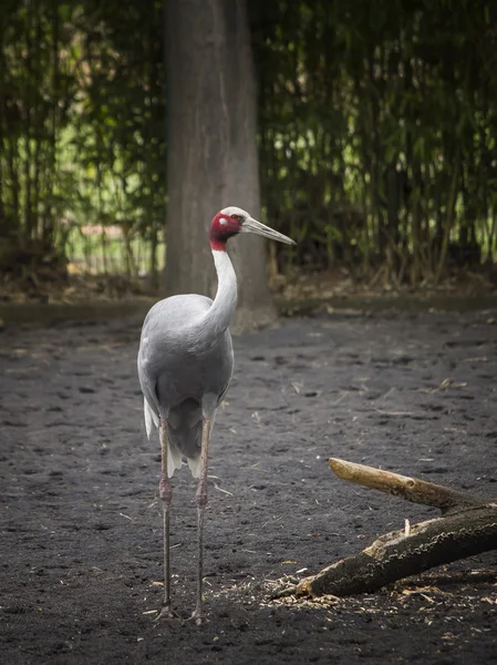
[[[249,7],[263,201],[294,258],[415,284],[495,260],[497,4]]]

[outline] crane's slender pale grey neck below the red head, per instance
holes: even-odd
[[[237,306],[237,276],[225,250],[213,249],[217,273],[217,293],[210,309],[201,319],[201,338],[197,345],[208,348],[228,328]]]

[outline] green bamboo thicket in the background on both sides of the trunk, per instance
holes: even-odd
[[[252,0],[249,12],[262,205],[298,241],[272,248],[273,266],[391,285],[491,276],[497,4]],[[164,33],[157,1],[1,3],[4,277],[63,277],[90,258],[108,274],[117,254],[120,272],[158,284]]]

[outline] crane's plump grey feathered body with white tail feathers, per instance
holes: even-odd
[[[226,329],[204,344],[203,323],[213,300],[206,296],[172,296],[148,311],[139,341],[138,378],[145,422],[167,420],[168,475],[186,457],[198,475],[203,417],[214,421],[234,370],[231,336]]]

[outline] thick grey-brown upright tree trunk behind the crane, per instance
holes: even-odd
[[[166,295],[214,296],[214,215],[238,205],[260,218],[256,85],[245,0],[165,0],[168,205]],[[270,223],[270,221],[269,221]],[[238,276],[232,328],[276,318],[261,238],[230,242]]]

